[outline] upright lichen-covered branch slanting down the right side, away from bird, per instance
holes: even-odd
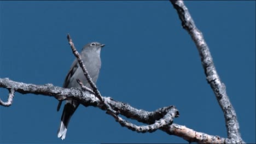
[[[230,141],[228,143],[244,143],[241,138],[239,131],[239,124],[236,118],[236,112],[234,107],[230,103],[228,95],[226,94],[226,88],[224,83],[220,80],[217,70],[214,66],[213,59],[210,53],[210,49],[206,44],[205,39],[203,39],[202,33],[196,28],[195,23],[185,7],[183,1],[171,1],[173,7],[177,10],[179,19],[182,21],[182,27],[189,33],[194,43],[196,44],[197,50],[201,57],[201,62],[203,70],[205,70],[205,75],[208,83],[216,95],[218,103],[222,108],[225,117],[226,129],[228,131],[228,138]]]

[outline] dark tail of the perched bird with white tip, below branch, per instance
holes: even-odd
[[[61,138],[61,140],[65,139],[69,120],[78,106],[79,103],[77,103],[77,101],[67,100],[67,103],[65,104],[62,112],[61,123],[57,133],[58,137]]]

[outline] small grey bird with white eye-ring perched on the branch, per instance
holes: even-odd
[[[104,46],[104,44],[100,44],[98,42],[93,42],[85,45],[83,47],[82,52],[80,53],[81,58],[84,62],[85,68],[88,71],[88,74],[91,76],[91,79],[94,83],[96,83],[98,79],[98,74],[100,73],[101,69],[101,48]],[[91,88],[90,84],[86,80],[86,77],[84,76],[83,70],[80,68],[79,63],[77,62],[77,59],[74,60],[74,62],[71,65],[70,70],[68,71],[68,74],[66,76],[66,79],[63,83],[64,88],[78,88],[81,89],[80,85],[77,83],[77,79],[81,80],[84,84],[84,86]],[[61,106],[61,101],[57,107],[57,111],[59,111]],[[78,101],[75,100],[67,100],[66,104],[63,109],[63,113],[61,116],[61,123],[60,127],[58,129],[58,137],[62,140],[65,139],[66,133],[67,133],[67,126],[68,122],[79,106]]]

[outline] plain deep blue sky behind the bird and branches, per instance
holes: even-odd
[[[255,143],[255,1],[185,1],[235,107],[243,140]],[[79,49],[98,41],[102,95],[154,111],[175,105],[177,124],[226,137],[223,112],[199,53],[169,1],[0,1],[0,77],[62,86]],[[153,76],[156,77],[153,77]],[[0,88],[0,97],[8,91]],[[104,111],[79,106],[57,138],[58,101],[15,93],[0,106],[0,143],[182,143],[161,130],[139,134]],[[138,123],[137,123],[138,124]]]

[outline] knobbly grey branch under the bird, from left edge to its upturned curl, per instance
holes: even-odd
[[[46,96],[55,97],[58,100],[65,99],[75,99],[79,101],[80,104],[84,106],[95,106],[99,107],[101,110],[107,110],[106,104],[103,104],[93,93],[90,91],[83,91],[81,95],[81,91],[79,89],[69,89],[56,87],[52,84],[45,85],[33,85],[28,83],[16,82],[12,81],[8,78],[1,79],[0,78],[0,87],[11,89],[9,94],[10,100],[13,101],[14,92],[19,92],[21,94],[41,94]],[[109,111],[108,114],[112,115],[117,122],[119,122],[123,127],[127,127],[131,130],[135,130],[138,133],[146,133],[153,132],[162,127],[167,127],[173,123],[173,118],[179,116],[179,112],[174,106],[163,107],[153,112],[148,112],[144,110],[138,110],[129,104],[125,104],[119,101],[115,101],[110,97],[102,97],[104,103],[107,103],[111,109],[118,111],[120,115],[123,115],[127,118],[136,119],[139,122],[143,122],[149,125],[137,126],[132,124],[124,119],[120,118],[114,113]],[[1,105],[5,106],[6,103],[9,103],[8,106],[11,105],[11,102],[3,102],[1,100]]]

